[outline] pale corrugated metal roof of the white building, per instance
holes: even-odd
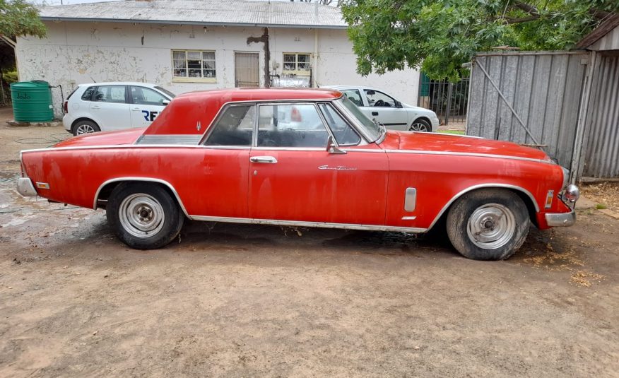
[[[311,3],[244,0],[126,0],[42,6],[48,21],[99,21],[282,28],[347,27],[339,8]]]

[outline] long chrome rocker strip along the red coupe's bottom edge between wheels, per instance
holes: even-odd
[[[228,218],[228,217],[211,217],[211,216],[205,216],[205,215],[191,215],[190,218],[193,220],[204,220],[206,222],[248,223],[252,225],[283,225],[283,226],[293,226],[293,227],[342,228],[344,230],[389,231],[389,232],[410,232],[410,233],[423,233],[423,232],[428,231],[427,228],[394,227],[394,226],[384,226],[384,225],[355,225],[352,223],[305,222],[301,220]]]

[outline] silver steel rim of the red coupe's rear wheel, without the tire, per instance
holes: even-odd
[[[165,220],[163,206],[153,196],[131,194],[122,200],[118,209],[122,228],[135,237],[151,237],[162,228]]]

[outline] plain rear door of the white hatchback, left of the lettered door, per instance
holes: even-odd
[[[88,110],[102,131],[131,127],[126,85],[99,85]]]

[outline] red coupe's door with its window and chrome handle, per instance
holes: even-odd
[[[293,128],[279,122],[282,114],[293,112],[297,119]],[[321,122],[316,124],[315,119]],[[384,223],[387,155],[327,152],[331,132],[322,119],[319,107],[312,103],[259,106],[257,137],[249,159],[250,218]],[[344,134],[338,133],[341,138]]]

